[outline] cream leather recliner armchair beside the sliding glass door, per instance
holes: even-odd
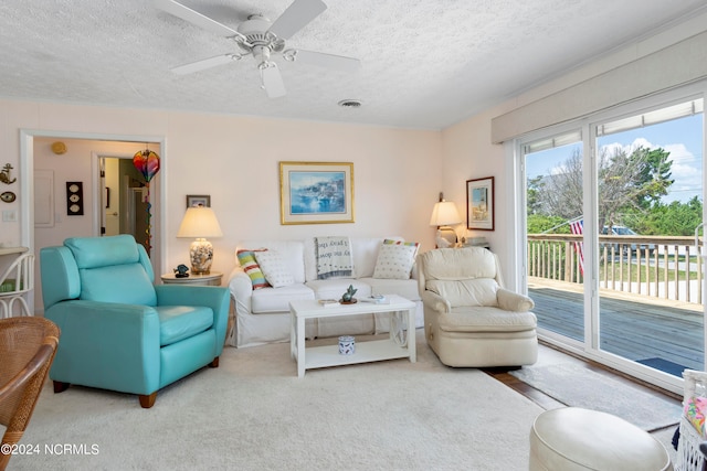
[[[418,257],[428,344],[449,366],[521,366],[538,357],[535,307],[504,288],[498,258],[481,247]]]

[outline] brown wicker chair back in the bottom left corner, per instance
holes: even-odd
[[[59,328],[44,318],[0,319],[0,424],[2,449],[20,441],[54,360]],[[11,454],[0,452],[0,471]]]

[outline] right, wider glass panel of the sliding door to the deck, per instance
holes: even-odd
[[[599,350],[678,377],[705,357],[703,117],[695,99],[593,127]]]

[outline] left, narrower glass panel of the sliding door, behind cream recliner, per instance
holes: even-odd
[[[583,150],[581,132],[523,147],[527,188],[527,282],[539,324],[584,341]]]

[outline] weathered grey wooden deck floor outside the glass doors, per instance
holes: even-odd
[[[584,295],[581,287],[564,285],[531,283],[528,295],[536,303],[534,312],[541,329],[583,341]],[[633,361],[659,358],[703,370],[704,317],[699,306],[602,290],[599,308],[602,350]]]

